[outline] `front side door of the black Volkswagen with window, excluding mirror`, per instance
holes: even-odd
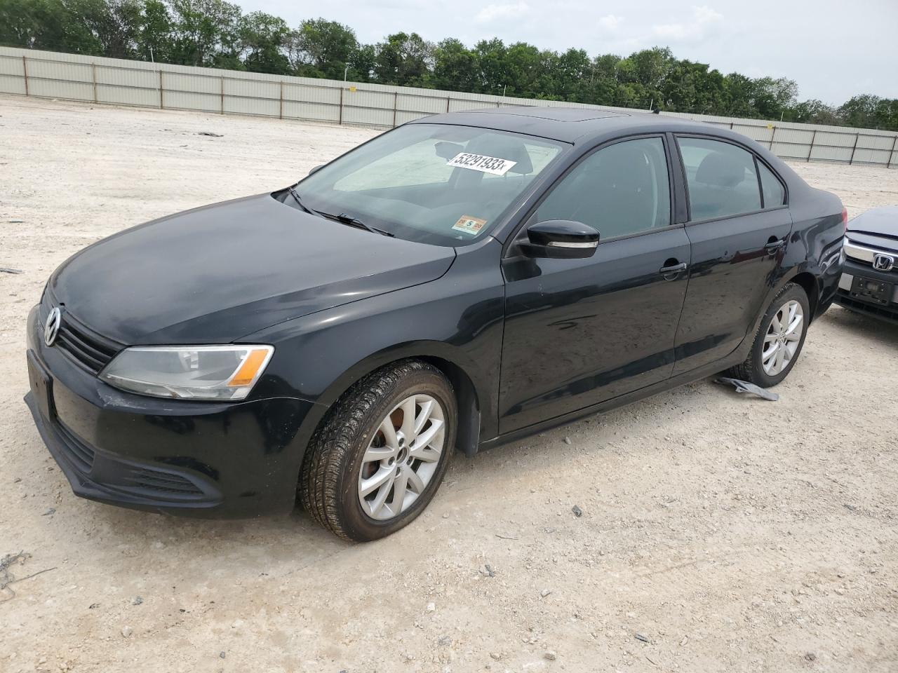
[[[690,241],[671,224],[665,143],[653,135],[586,155],[528,220],[589,224],[600,235],[593,257],[526,258],[512,247],[499,433],[672,375]]]

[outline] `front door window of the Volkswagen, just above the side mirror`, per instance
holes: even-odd
[[[638,138],[590,154],[552,189],[536,217],[589,224],[602,240],[667,226],[671,198],[664,142]]]

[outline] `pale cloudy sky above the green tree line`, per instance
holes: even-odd
[[[236,0],[291,27],[322,17],[363,43],[393,32],[469,47],[498,37],[590,56],[669,47],[724,74],[786,76],[799,100],[841,104],[859,93],[898,98],[898,0]]]

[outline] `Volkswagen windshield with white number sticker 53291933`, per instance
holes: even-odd
[[[409,124],[296,186],[302,203],[402,239],[482,240],[564,144],[486,128]]]

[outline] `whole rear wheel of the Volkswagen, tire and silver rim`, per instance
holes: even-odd
[[[793,310],[791,307],[797,307]],[[796,328],[801,329],[797,338],[779,338],[784,334],[780,319],[784,316],[784,309],[790,311],[790,318],[795,322],[795,317],[800,311],[800,324]],[[762,388],[772,388],[780,381],[788,376],[788,372],[792,371],[801,349],[805,345],[805,337],[807,335],[807,319],[810,316],[810,308],[807,302],[807,294],[804,288],[795,283],[788,283],[777,296],[770,302],[770,306],[764,312],[761,320],[761,327],[754,336],[752,350],[744,363],[737,364],[735,367],[726,371],[726,375],[734,379],[747,380]],[[774,325],[774,319],[777,319],[777,325]],[[788,327],[787,327],[788,330]],[[794,332],[790,332],[794,336]],[[779,345],[782,350],[783,362],[778,369],[776,366],[770,366],[769,356],[765,356],[772,346]],[[794,345],[794,350],[792,350]],[[791,351],[791,352],[790,352]],[[779,353],[777,351],[776,353]],[[775,354],[774,354],[775,355]]]

